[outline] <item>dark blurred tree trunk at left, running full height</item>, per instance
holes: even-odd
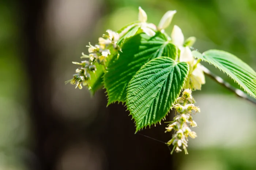
[[[51,132],[59,126],[53,117],[51,104],[52,66],[53,55],[44,45],[45,10],[48,0],[22,0],[20,1],[20,24],[22,36],[20,46],[24,50],[27,68],[30,115],[34,132],[35,162],[31,169],[52,170],[57,147],[53,141],[47,141]],[[58,146],[58,145],[56,145]]]

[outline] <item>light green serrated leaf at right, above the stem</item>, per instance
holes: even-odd
[[[226,72],[249,95],[256,98],[256,72],[242,60],[225,51],[208,50],[203,54],[192,51],[196,58],[202,59]]]

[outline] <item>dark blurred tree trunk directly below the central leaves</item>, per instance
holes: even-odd
[[[167,142],[170,136],[165,134],[166,124],[135,133],[135,123],[126,108],[121,104],[108,107],[107,156],[109,170],[170,170],[173,159],[164,143],[148,137]],[[168,120],[168,119],[167,119]]]

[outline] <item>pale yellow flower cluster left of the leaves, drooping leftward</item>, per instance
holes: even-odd
[[[78,64],[80,67],[76,69],[76,74],[74,74],[73,79],[67,81],[71,84],[76,84],[76,88],[82,89],[83,86],[89,85],[89,80],[91,78],[91,72],[95,73],[97,70],[95,64],[105,66],[105,62],[107,61],[108,56],[110,55],[110,47],[117,49],[117,41],[119,39],[118,33],[107,30],[108,35],[103,34],[103,37],[99,37],[99,43],[95,46],[92,46],[89,43],[88,52],[89,55],[84,55],[82,53],[81,58],[88,58],[89,61],[85,60],[81,63],[72,62],[73,64]],[[82,86],[83,84],[83,86]],[[89,87],[90,88],[90,87]]]

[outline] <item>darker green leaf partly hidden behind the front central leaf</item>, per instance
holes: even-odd
[[[125,102],[127,85],[143,64],[160,56],[173,59],[178,56],[178,48],[169,43],[162,33],[154,37],[145,33],[135,35],[124,43],[122,51],[120,56],[116,55],[109,62],[103,76],[108,104]]]

